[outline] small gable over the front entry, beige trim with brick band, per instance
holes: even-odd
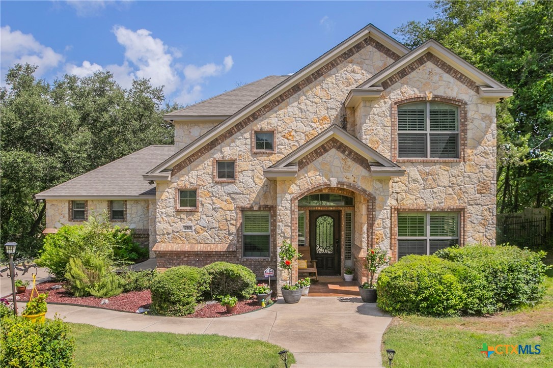
[[[397,164],[388,160],[337,124],[332,124],[315,138],[307,141],[307,143],[265,169],[265,177],[296,176],[298,170],[303,169],[310,162],[328,153],[331,149],[341,151],[342,154],[350,157],[374,176],[403,176],[405,174],[405,170]]]

